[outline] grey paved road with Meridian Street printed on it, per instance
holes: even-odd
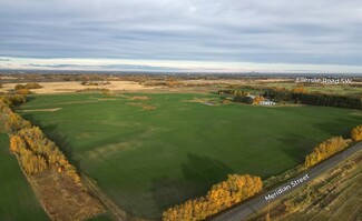
[[[245,220],[252,213],[266,207],[268,201],[272,202],[273,200],[278,199],[286,193],[290,193],[291,191],[305,185],[307,182],[310,182],[314,178],[319,177],[321,173],[327,171],[329,169],[333,168],[335,164],[343,161],[345,158],[349,158],[352,154],[354,154],[361,150],[362,150],[362,142],[359,142],[359,143],[354,144],[353,147],[344,150],[343,152],[341,152],[341,153],[325,160],[324,162],[317,164],[316,167],[310,169],[309,171],[303,172],[302,175],[293,178],[293,179],[288,180],[287,182],[285,182],[284,184],[282,184],[268,192],[265,192],[265,193],[263,193],[245,203],[242,203],[235,208],[232,208],[231,210],[222,212],[218,215],[215,215],[209,220],[212,220],[212,221]]]

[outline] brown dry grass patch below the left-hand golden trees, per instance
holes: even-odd
[[[105,212],[97,199],[62,173],[46,171],[28,178],[51,220],[85,220]]]

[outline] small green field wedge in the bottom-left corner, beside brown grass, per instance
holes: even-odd
[[[49,220],[22,174],[17,159],[9,152],[9,138],[0,133],[0,220]]]

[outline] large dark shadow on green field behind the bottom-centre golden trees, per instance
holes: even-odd
[[[166,165],[167,167],[167,165]],[[205,195],[213,184],[225,180],[234,171],[219,160],[188,153],[182,164],[183,178],[160,177],[153,181],[153,198],[158,214],[175,204]]]

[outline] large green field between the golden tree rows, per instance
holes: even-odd
[[[205,194],[228,173],[281,173],[316,143],[348,137],[362,122],[362,111],[349,109],[189,102],[215,94],[129,96],[32,96],[18,111],[121,208],[148,219]]]

